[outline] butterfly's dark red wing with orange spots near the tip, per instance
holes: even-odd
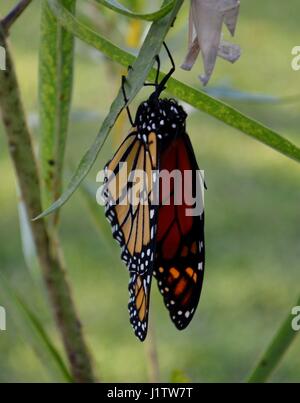
[[[160,184],[162,205],[154,275],[173,323],[182,330],[197,308],[205,263],[202,179],[187,134],[178,136],[162,152],[161,175],[163,172],[179,172],[182,180],[177,182],[175,178],[170,188]],[[185,176],[184,172],[189,175]],[[180,193],[182,200],[178,200]],[[197,195],[200,209],[194,210],[196,215],[190,215],[192,199],[187,201],[187,195]]]

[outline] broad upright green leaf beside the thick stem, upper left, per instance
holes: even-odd
[[[76,0],[63,0],[74,13]],[[39,112],[43,205],[62,192],[65,147],[73,87],[74,37],[66,31],[43,0],[39,57]]]

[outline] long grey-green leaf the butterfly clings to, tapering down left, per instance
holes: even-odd
[[[59,1],[48,0],[48,4],[53,13],[55,14],[55,16],[58,18],[59,22],[68,20],[71,22],[71,24],[75,23],[75,26],[77,26],[77,20],[72,16],[72,14],[70,14],[65,8],[61,6]],[[151,67],[153,66],[155,56],[160,52],[160,48],[162,46],[164,38],[168,33],[170,27],[172,26],[174,19],[182,4],[183,0],[176,0],[172,13],[170,13],[170,15],[168,15],[167,17],[164,17],[163,19],[156,21],[152,24],[150,31],[147,35],[147,38],[141,48],[139,56],[137,60],[134,62],[132,66],[133,68],[130,70],[128,74],[127,95],[129,98],[129,102],[132,101],[132,99],[137,95],[139,90],[143,87],[144,82],[151,70]],[[79,26],[79,29],[82,29],[82,27],[84,30],[81,31],[81,33],[83,34],[83,36],[85,36],[85,27],[81,25]],[[100,41],[101,45],[103,45],[103,47],[106,48],[107,52],[111,53],[116,51],[117,54],[119,55],[122,54],[116,46],[112,46],[112,44],[107,40],[105,40],[104,38],[101,38]],[[125,64],[125,60],[123,62]],[[79,168],[75,173],[75,175],[73,176],[73,178],[71,179],[68,188],[66,189],[64,194],[48,210],[46,210],[36,219],[45,217],[53,213],[55,210],[60,208],[69,200],[69,198],[76,191],[80,183],[83,181],[83,179],[86,177],[86,175],[92,168],[100,150],[102,149],[105,139],[107,138],[109,132],[113,128],[118,116],[120,115],[123,109],[124,109],[124,97],[122,91],[120,90],[117,98],[111,105],[110,112],[107,115],[106,119],[104,120],[100,132],[98,133],[95,139],[95,142],[92,144],[90,149],[87,151],[87,153],[81,160]]]

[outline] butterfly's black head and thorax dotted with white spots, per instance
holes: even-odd
[[[174,99],[150,96],[137,111],[136,127],[140,134],[155,132],[162,138],[185,131],[187,114]]]

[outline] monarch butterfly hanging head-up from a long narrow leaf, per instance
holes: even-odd
[[[135,120],[127,107],[133,132],[105,167],[105,214],[129,269],[130,322],[141,341],[147,336],[152,277],[171,320],[182,330],[194,316],[204,275],[204,210],[192,216],[187,214],[185,201],[175,202],[176,186],[192,195],[200,178],[185,130],[187,114],[174,99],[160,97],[175,71],[170,51],[164,46],[172,69],[159,83],[160,59],[156,57],[155,84],[145,84],[155,90],[139,106]],[[127,103],[125,80],[123,77],[122,88]],[[160,174],[174,171],[192,175],[179,185],[174,180],[167,190]],[[128,196],[137,182],[137,200],[130,203]]]

